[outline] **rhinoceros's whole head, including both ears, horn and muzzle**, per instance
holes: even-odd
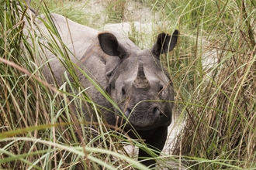
[[[159,34],[152,49],[144,50],[126,46],[109,32],[99,34],[98,39],[102,51],[109,55],[106,91],[123,110],[129,121],[126,127],[144,131],[171,124],[174,93],[159,56],[175,47],[178,31],[172,36]],[[116,115],[122,117],[117,113],[116,110]],[[126,121],[119,119],[121,122]]]

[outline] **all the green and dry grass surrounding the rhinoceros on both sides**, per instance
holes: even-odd
[[[43,34],[29,32],[33,43],[28,42],[21,19],[30,18],[22,1],[16,2],[0,2],[0,168],[146,169],[123,149],[126,143],[143,146],[118,130],[108,131],[100,118],[94,124],[98,132],[93,132],[98,135],[88,134],[90,124],[83,121],[79,110],[86,104],[100,117],[99,106],[88,99],[78,81],[71,83],[67,77],[64,86],[56,87],[44,80],[40,70],[47,62],[38,61],[46,57],[40,53]],[[95,13],[84,10],[90,1],[38,0],[31,6],[99,29],[107,22],[133,22],[128,2],[106,1]],[[150,33],[133,28],[129,36],[135,43],[151,46],[154,38],[145,37],[174,29],[180,32],[178,47],[161,58],[175,86],[174,111],[181,115],[182,125],[175,124],[184,128],[176,138],[173,155],[158,158],[160,166],[172,168],[171,160],[188,169],[255,169],[256,2],[137,3],[150,8],[153,17],[147,22],[157,26]],[[54,42],[58,39],[54,25],[47,29],[53,35],[50,50],[60,54],[72,73],[75,65],[68,62],[68,49]],[[67,88],[73,93],[67,93]],[[88,135],[93,140],[88,141]]]

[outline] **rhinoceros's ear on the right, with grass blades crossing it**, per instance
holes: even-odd
[[[166,33],[161,33],[157,37],[157,42],[154,43],[154,46],[151,49],[151,52],[156,56],[160,56],[162,53],[168,53],[177,43],[178,39],[178,30],[172,33],[172,36],[169,36]]]

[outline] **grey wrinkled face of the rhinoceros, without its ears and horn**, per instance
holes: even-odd
[[[138,65],[143,63],[146,87],[137,87]],[[159,78],[158,78],[159,77]],[[148,49],[138,51],[125,59],[109,82],[108,92],[124,111],[137,130],[150,130],[171,124],[172,87],[161,63]],[[126,99],[126,100],[125,100]]]

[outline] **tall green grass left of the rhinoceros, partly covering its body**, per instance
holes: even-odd
[[[50,36],[33,29],[26,33],[24,25],[29,25],[31,18],[22,3],[1,4],[0,168],[145,168],[123,149],[128,141],[140,143],[126,138],[118,129],[107,131],[95,104],[88,100],[78,81],[71,83],[67,78],[67,84],[57,87],[44,80],[40,72],[47,66],[47,62],[42,62],[47,54],[40,50],[44,39],[70,73],[74,74],[74,66],[68,60],[66,46],[57,43],[60,37],[47,8],[42,9],[49,19],[46,26]],[[66,88],[73,93],[67,93]],[[76,107],[71,107],[71,103]],[[94,132],[93,124],[85,122],[81,115],[84,104],[99,119]]]

